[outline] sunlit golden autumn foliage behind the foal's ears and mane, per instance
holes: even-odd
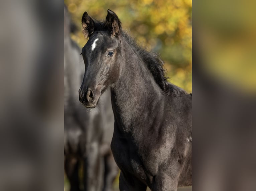
[[[159,53],[165,62],[169,81],[192,91],[192,0],[64,0],[73,21],[81,27],[85,11],[104,19],[114,11],[122,27],[147,50]],[[83,47],[81,31],[72,38]]]

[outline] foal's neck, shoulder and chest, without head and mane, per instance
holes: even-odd
[[[191,96],[183,92],[175,97],[162,95],[140,60],[129,57],[111,88],[115,115],[111,149],[124,174],[135,175],[150,188],[159,175],[170,177],[168,182],[177,186],[178,180],[171,183],[170,179],[191,165]],[[191,171],[187,175],[180,177],[180,186],[191,184]]]

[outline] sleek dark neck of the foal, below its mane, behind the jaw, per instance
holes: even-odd
[[[123,45],[122,51],[125,56],[120,66],[121,75],[111,87],[111,97],[118,126],[123,131],[130,131],[139,125],[138,121],[143,124],[150,114],[157,112],[153,110],[161,102],[163,95],[142,58],[127,42]],[[147,117],[142,117],[143,112],[148,113]]]

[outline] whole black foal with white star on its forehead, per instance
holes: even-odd
[[[111,88],[115,116],[111,149],[121,169],[121,191],[176,191],[192,183],[192,96],[164,77],[163,61],[122,30],[108,10],[105,21],[82,17],[88,42],[80,102],[97,106]]]

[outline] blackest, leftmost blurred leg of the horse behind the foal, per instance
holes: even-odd
[[[75,157],[66,157],[64,167],[70,182],[70,191],[80,191],[78,159]]]

